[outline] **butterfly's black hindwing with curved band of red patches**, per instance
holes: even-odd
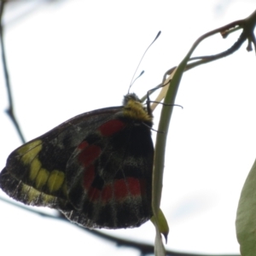
[[[100,126],[68,160],[67,193],[76,212],[66,215],[92,227],[138,226],[151,214],[150,131],[129,119],[112,119],[103,125],[120,131],[103,136]]]

